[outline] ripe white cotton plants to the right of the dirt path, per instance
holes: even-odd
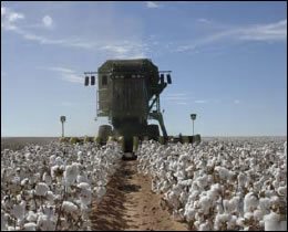
[[[137,155],[152,191],[191,230],[287,229],[287,141],[148,141]]]

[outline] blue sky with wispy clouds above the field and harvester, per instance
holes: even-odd
[[[148,57],[172,70],[169,135],[287,135],[286,2],[1,2],[2,136],[93,136],[83,72]],[[155,123],[155,122],[152,122]]]

